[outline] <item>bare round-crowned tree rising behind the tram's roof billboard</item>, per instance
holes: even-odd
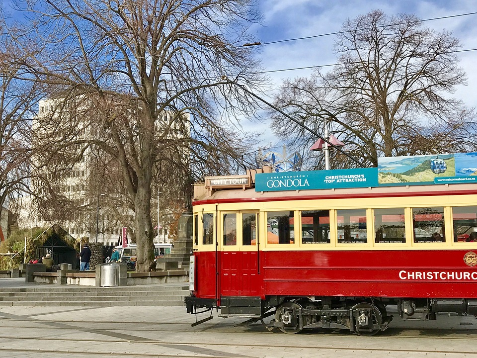
[[[319,133],[327,120],[349,154],[370,166],[381,156],[476,150],[468,141],[475,113],[449,96],[466,84],[458,48],[450,33],[424,28],[413,15],[375,10],[344,23],[332,70],[285,81],[275,104]],[[298,148],[306,151],[318,139],[273,117],[277,133]],[[355,166],[334,156],[335,165]],[[319,156],[308,157],[311,167],[322,168]]]

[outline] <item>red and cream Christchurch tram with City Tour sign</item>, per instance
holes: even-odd
[[[400,320],[477,315],[477,243],[462,240],[477,235],[477,183],[377,178],[264,168],[196,184],[188,312],[359,335],[388,328],[388,305]]]

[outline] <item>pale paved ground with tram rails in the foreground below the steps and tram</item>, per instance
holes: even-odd
[[[0,279],[0,287],[8,285],[25,284]],[[360,337],[324,330],[286,335],[260,323],[219,318],[217,312],[212,320],[191,327],[195,318],[185,306],[1,307],[0,358],[477,358],[473,316],[403,322],[396,312],[391,314],[395,319],[388,331]]]

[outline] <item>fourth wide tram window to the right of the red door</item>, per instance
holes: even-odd
[[[374,209],[375,242],[405,243],[404,208]]]

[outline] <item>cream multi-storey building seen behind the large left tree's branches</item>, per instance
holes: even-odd
[[[47,99],[39,102],[38,118],[47,118],[48,116],[56,116],[58,108],[62,107],[61,99]],[[62,113],[67,113],[63,108]],[[66,115],[68,119],[68,115]],[[170,125],[173,122],[171,113],[164,113],[160,116],[158,122],[169,125],[170,135],[175,138],[185,137],[190,132],[190,117],[183,116],[183,122],[180,125]],[[44,128],[42,120],[35,120],[33,122],[33,130],[41,138],[42,133],[48,133],[50,128]],[[160,123],[158,123],[158,126]],[[182,128],[182,129],[181,129]],[[186,128],[184,131],[183,128]],[[78,122],[79,138],[87,139],[89,137],[97,138],[98,132],[96,128],[88,126],[87,122]],[[187,155],[187,153],[184,153]],[[122,228],[132,227],[134,213],[129,209],[124,209],[118,202],[121,202],[120,195],[114,193],[103,192],[100,194],[91,194],[90,180],[93,170],[94,160],[97,156],[94,145],[88,146],[81,154],[80,160],[76,161],[71,170],[67,171],[60,180],[57,180],[58,192],[67,198],[69,201],[76,204],[78,210],[73,210],[66,217],[55,217],[50,215],[49,218],[44,218],[39,213],[38,207],[34,200],[29,196],[21,198],[21,211],[18,217],[18,226],[20,228],[32,228],[36,226],[46,227],[53,223],[59,224],[72,237],[79,240],[89,240],[89,242],[102,242],[104,245],[117,245]],[[53,174],[45,171],[44,175],[52,177]],[[58,178],[56,178],[58,179]],[[88,184],[89,183],[89,184]],[[156,197],[153,197],[153,200]],[[157,197],[159,200],[159,196]],[[152,202],[151,207],[156,208],[157,203]],[[154,210],[154,209],[153,209]],[[162,219],[164,213],[152,212],[153,226],[155,226],[159,235],[156,238],[157,242],[168,242],[168,227]],[[159,224],[155,222],[155,217],[158,217]]]

